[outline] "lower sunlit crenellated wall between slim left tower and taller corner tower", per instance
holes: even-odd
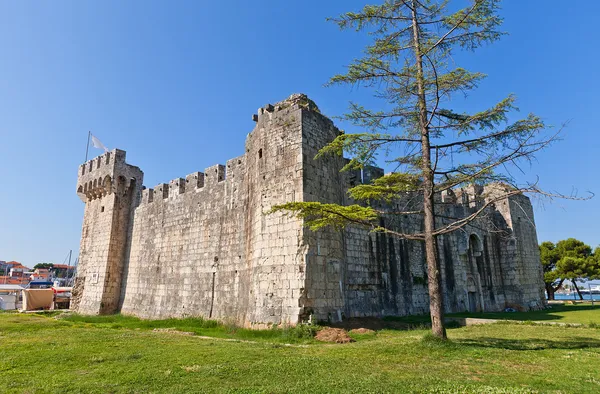
[[[122,313],[161,318],[244,312],[238,298],[249,286],[249,275],[243,264],[243,203],[237,204],[240,197],[245,200],[239,195],[243,167],[233,160],[228,179],[223,166],[213,166],[143,191]],[[195,177],[203,178],[202,187],[194,184]]]

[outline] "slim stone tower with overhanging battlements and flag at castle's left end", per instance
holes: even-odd
[[[85,203],[72,309],[109,314],[119,308],[131,217],[143,173],[115,149],[82,164],[77,195]]]

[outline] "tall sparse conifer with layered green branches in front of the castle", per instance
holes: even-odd
[[[378,154],[387,152],[388,165],[395,170],[372,184],[350,189],[356,205],[296,202],[274,208],[305,219],[313,230],[357,225],[424,242],[432,330],[444,339],[436,238],[468,225],[496,201],[541,192],[535,183],[518,185],[509,168],[530,160],[557,135],[547,135],[544,122],[533,114],[509,124],[509,113],[516,110],[512,95],[477,113],[452,107],[453,96],[476,88],[485,78],[455,67],[452,55],[502,37],[498,8],[498,0],[471,0],[456,12],[449,11],[449,0],[387,0],[333,19],[341,29],[368,33],[373,41],[345,74],[335,75],[329,84],[371,88],[380,105],[371,109],[351,102],[344,118],[364,132],[341,134],[317,157],[349,153],[352,160],[344,168],[348,170],[372,164]],[[487,198],[474,214],[436,225],[434,194],[498,181],[509,187]],[[382,208],[382,203],[406,193],[421,197],[421,209]],[[377,218],[382,215],[421,215],[423,230],[399,233],[379,226]]]

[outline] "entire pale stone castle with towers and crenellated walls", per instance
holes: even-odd
[[[153,189],[142,186],[143,172],[124,151],[81,165],[85,213],[72,309],[250,327],[428,312],[422,243],[359,228],[312,232],[299,219],[265,214],[290,201],[348,204],[349,187],[383,170],[340,172],[347,159],[315,160],[339,130],[304,95],[267,105],[253,120],[243,155]],[[437,198],[445,216],[462,218],[502,188]],[[421,225],[418,215],[393,223],[404,231]],[[437,244],[447,312],[543,306],[527,197],[496,202]]]

